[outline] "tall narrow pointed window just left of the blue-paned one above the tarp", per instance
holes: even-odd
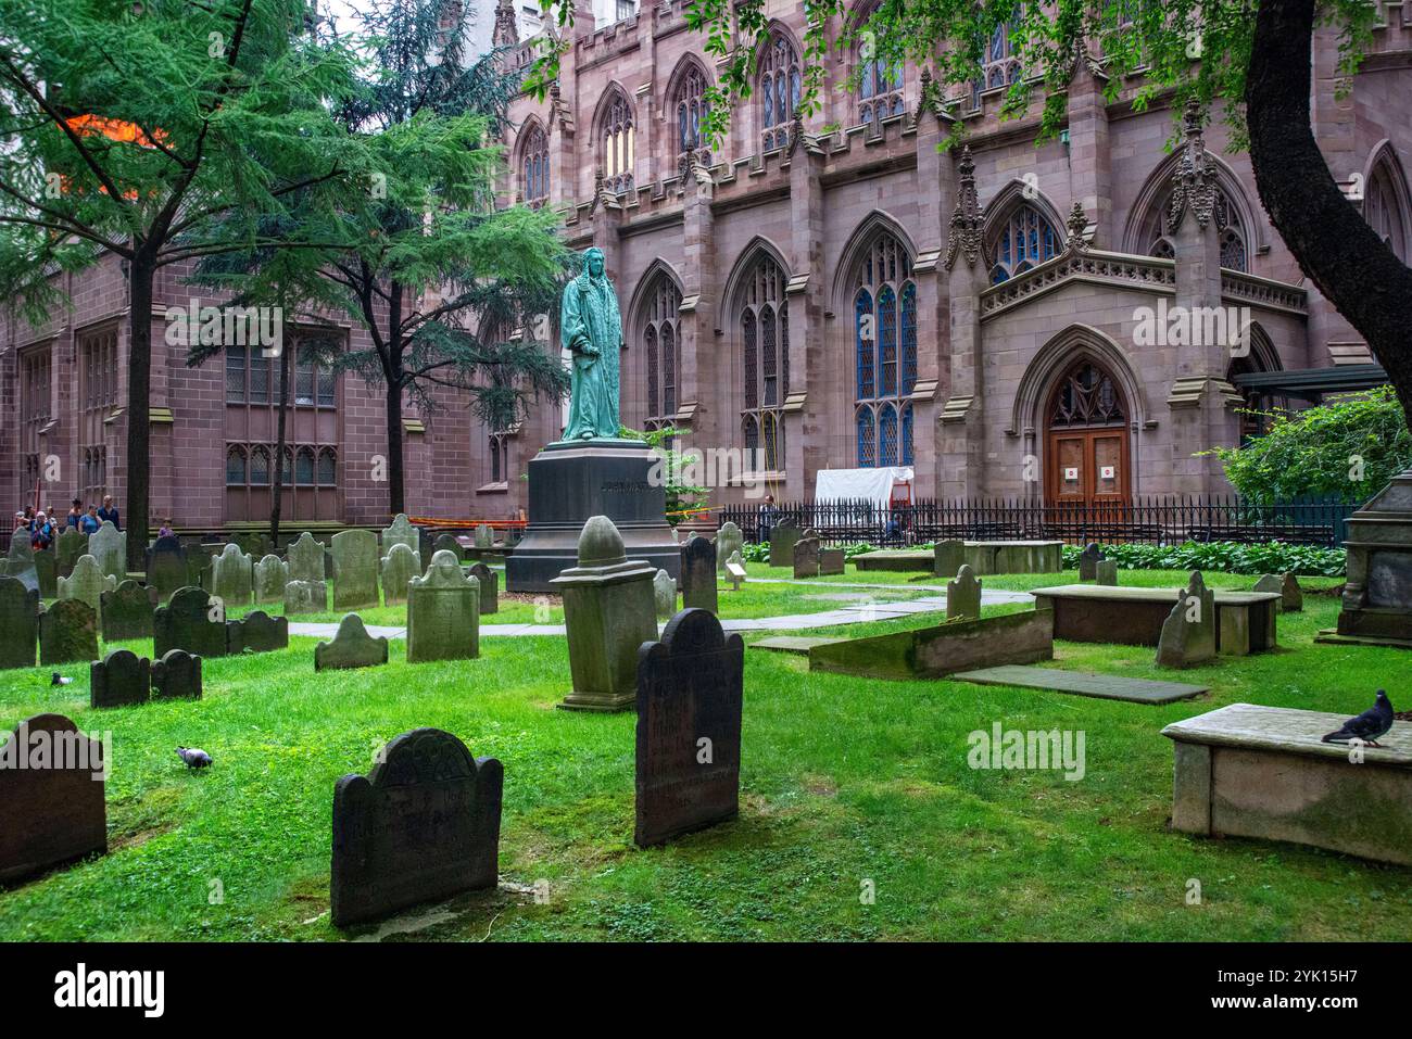
[[[747,466],[775,472],[784,466],[784,402],[789,395],[789,302],[785,274],[760,256],[737,294],[740,336],[741,438]]]

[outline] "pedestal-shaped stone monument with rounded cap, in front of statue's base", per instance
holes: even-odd
[[[657,638],[657,569],[627,558],[623,536],[606,515],[583,525],[578,551],[579,565],[549,582],[563,593],[573,675],[573,692],[559,706],[627,710],[637,702],[638,647]]]

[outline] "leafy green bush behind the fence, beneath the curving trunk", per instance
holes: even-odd
[[[1299,412],[1261,412],[1269,432],[1214,448],[1226,476],[1254,501],[1327,496],[1367,501],[1412,466],[1412,433],[1389,385]]]

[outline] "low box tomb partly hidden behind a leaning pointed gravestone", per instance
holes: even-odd
[[[1055,638],[1070,642],[1156,645],[1182,589],[1060,584],[1034,589],[1035,607],[1055,611]],[[1244,656],[1274,649],[1278,591],[1213,591],[1216,651]]]

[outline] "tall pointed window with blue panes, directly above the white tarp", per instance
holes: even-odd
[[[916,282],[912,258],[892,233],[858,260],[853,289],[854,425],[858,466],[912,457],[904,400],[916,388]]]

